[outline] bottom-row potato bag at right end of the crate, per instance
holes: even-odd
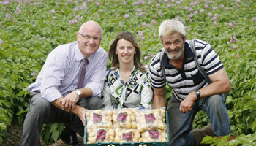
[[[143,142],[167,142],[167,133],[164,130],[149,130],[141,134]]]

